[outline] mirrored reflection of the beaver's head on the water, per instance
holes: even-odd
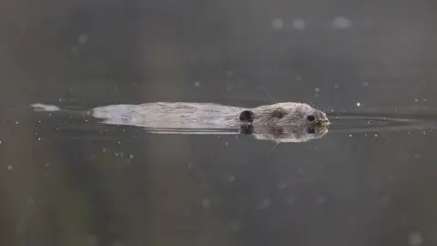
[[[328,128],[325,126],[254,127],[247,125],[241,126],[239,133],[276,142],[305,142],[322,138],[328,133]]]

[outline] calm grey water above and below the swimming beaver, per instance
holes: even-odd
[[[2,245],[437,245],[432,130],[149,135],[34,102],[436,106],[433,1],[0,4]],[[359,103],[360,107],[357,107]]]

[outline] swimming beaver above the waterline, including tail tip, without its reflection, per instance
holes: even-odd
[[[56,106],[33,104],[43,111]],[[304,103],[285,102],[257,108],[229,107],[212,103],[157,102],[140,105],[109,105],[87,112],[107,124],[147,128],[235,128],[241,125],[287,127],[327,125],[326,114]]]

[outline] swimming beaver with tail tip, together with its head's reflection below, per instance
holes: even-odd
[[[33,104],[36,111],[59,111],[54,105]],[[300,142],[321,138],[330,124],[326,114],[310,105],[282,102],[256,108],[224,106],[214,103],[156,102],[139,105],[118,104],[92,108],[85,112],[110,125],[137,126],[154,133],[212,133],[199,129],[237,129],[258,139]],[[169,131],[166,129],[188,129]],[[196,130],[197,129],[197,130]],[[216,131],[223,133],[223,131]],[[235,133],[235,132],[231,132]]]

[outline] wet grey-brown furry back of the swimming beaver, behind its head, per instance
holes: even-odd
[[[146,103],[93,108],[95,118],[112,125],[145,128],[232,128],[244,108],[199,103]]]

